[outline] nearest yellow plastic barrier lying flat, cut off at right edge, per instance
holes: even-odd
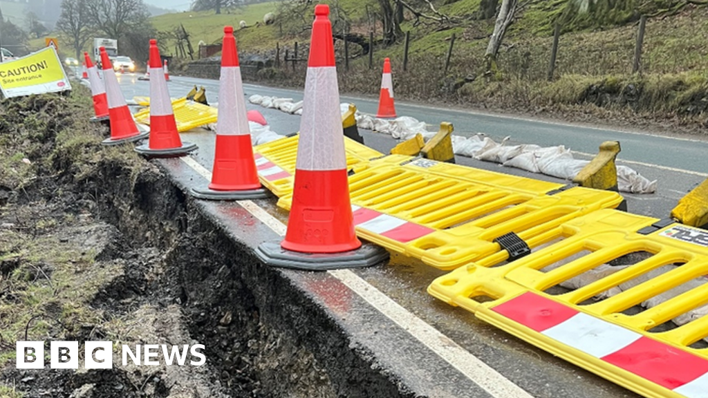
[[[599,210],[544,242],[507,264],[494,255],[458,268],[428,292],[645,397],[706,397],[708,349],[695,343],[708,337],[696,311],[708,304],[708,232]],[[594,282],[568,288],[591,272]]]

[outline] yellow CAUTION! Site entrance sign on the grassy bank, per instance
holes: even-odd
[[[0,63],[0,89],[7,98],[72,89],[54,47]]]

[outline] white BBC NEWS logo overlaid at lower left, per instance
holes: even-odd
[[[44,341],[18,341],[17,363],[18,369],[44,369],[45,367]],[[131,348],[122,345],[122,364],[128,361],[138,366],[160,365],[160,356],[165,365],[191,365],[201,366],[207,361],[204,356],[204,345],[195,344],[188,346],[167,346],[165,344],[136,344]],[[50,369],[78,369],[79,368],[79,341],[51,341],[50,342]],[[188,360],[189,359],[189,360]],[[86,369],[111,369],[113,368],[113,342],[111,341],[85,341],[84,342],[84,368]]]

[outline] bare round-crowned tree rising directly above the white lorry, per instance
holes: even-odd
[[[148,23],[149,13],[142,0],[86,0],[89,21],[109,38],[118,39]]]

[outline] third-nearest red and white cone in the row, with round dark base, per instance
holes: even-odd
[[[177,123],[172,110],[172,101],[167,91],[165,75],[162,74],[160,50],[157,40],[150,40],[150,140],[135,148],[135,152],[152,157],[178,157],[187,154],[197,145],[182,142],[177,132]]]

